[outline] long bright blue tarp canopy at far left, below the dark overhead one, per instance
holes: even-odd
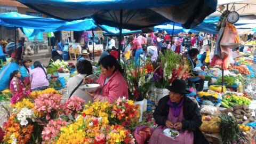
[[[20,27],[28,37],[33,37],[40,32],[51,31],[82,31],[91,30],[97,27],[93,19],[75,20],[71,22],[34,17],[17,12],[0,14],[0,25],[5,27]]]

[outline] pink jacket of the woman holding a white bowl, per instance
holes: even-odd
[[[100,75],[97,83],[100,84],[97,94],[93,97],[93,101],[109,101],[114,103],[119,97],[126,97],[128,99],[128,86],[122,74],[117,70],[104,85],[106,77]],[[102,90],[102,95],[100,91]]]

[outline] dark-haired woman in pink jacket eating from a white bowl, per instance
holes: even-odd
[[[116,58],[112,55],[107,55],[101,61],[101,75],[96,83],[100,84],[98,90],[93,93],[87,92],[93,101],[109,101],[113,103],[119,97],[128,98],[128,87],[125,82],[123,69]],[[92,79],[84,78],[84,83],[92,83]]]

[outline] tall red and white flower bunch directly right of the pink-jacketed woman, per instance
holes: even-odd
[[[134,62],[127,63],[125,66],[125,79],[129,89],[129,99],[142,101],[146,98],[152,86],[151,78],[153,74],[153,66],[150,61],[146,61],[142,67],[138,67]]]

